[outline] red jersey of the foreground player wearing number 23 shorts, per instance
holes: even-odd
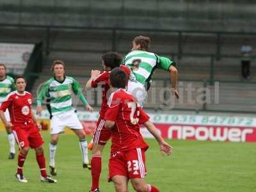
[[[104,119],[115,122],[111,153],[132,148],[148,148],[140,134],[140,124],[147,122],[149,117],[124,89],[111,94]]]

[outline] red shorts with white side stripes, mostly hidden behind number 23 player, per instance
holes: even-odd
[[[99,117],[97,122],[97,127],[93,134],[93,143],[97,143],[99,145],[106,145],[108,140],[111,138],[111,130],[104,127],[105,120]]]

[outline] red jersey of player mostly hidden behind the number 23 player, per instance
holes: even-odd
[[[124,65],[120,65],[120,68],[122,68],[125,71],[125,74],[129,78],[131,70]],[[102,103],[100,108],[101,118],[104,118],[104,115],[108,109],[108,98],[110,95],[110,92],[108,93],[108,90],[110,88],[109,76],[110,76],[110,71],[109,72],[104,71],[99,76],[95,77],[92,81],[93,88],[97,88],[98,85],[101,85],[102,87]]]

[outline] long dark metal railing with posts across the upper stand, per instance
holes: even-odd
[[[228,31],[199,31],[199,30],[168,30],[168,29],[146,29],[146,28],[95,28],[95,27],[78,27],[78,26],[46,26],[46,25],[30,25],[30,24],[1,24],[1,28],[25,28],[25,29],[42,29],[45,32],[45,40],[46,42],[46,48],[45,52],[49,54],[51,51],[50,47],[50,40],[51,40],[51,31],[57,30],[57,31],[67,31],[67,30],[80,30],[80,31],[86,31],[86,30],[99,30],[99,31],[111,31],[111,38],[112,38],[112,49],[111,51],[117,51],[116,50],[116,41],[117,41],[117,33],[118,31],[126,31],[126,32],[147,32],[147,33],[172,33],[177,35],[178,37],[178,44],[177,44],[177,50],[175,54],[177,54],[179,57],[182,57],[183,50],[182,50],[182,44],[184,44],[184,36],[186,35],[214,35],[216,36],[216,51],[215,51],[215,58],[220,59],[223,54],[221,54],[221,44],[222,44],[222,37],[227,35],[239,35],[239,36],[256,36],[256,33],[253,32],[228,32]],[[171,52],[171,51],[170,51]],[[169,53],[170,53],[169,52]],[[200,56],[202,54],[196,54],[197,56]],[[237,55],[230,55],[237,56]]]

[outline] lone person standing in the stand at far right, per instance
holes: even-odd
[[[250,79],[250,65],[251,65],[251,54],[252,54],[252,46],[249,43],[249,40],[244,40],[244,44],[241,46],[241,72],[244,79]]]

